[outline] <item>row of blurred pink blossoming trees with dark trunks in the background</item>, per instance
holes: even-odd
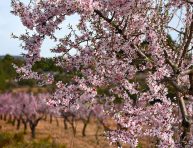
[[[78,110],[56,110],[53,106],[47,104],[50,94],[30,94],[30,93],[5,93],[0,95],[0,119],[7,123],[16,125],[19,130],[21,125],[24,127],[24,134],[29,126],[31,137],[35,138],[36,128],[40,121],[48,120],[50,124],[55,119],[57,126],[59,120],[63,119],[64,129],[70,126],[75,136],[78,122],[82,122],[82,136],[86,136],[86,129],[90,120],[96,122],[97,130],[95,133],[96,140],[99,142],[99,130],[108,128],[108,117],[103,114],[102,106],[93,106],[92,110],[81,106]],[[65,131],[64,131],[65,132]]]

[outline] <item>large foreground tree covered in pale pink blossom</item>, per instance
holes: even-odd
[[[22,78],[53,82],[51,74],[32,71],[46,37],[58,41],[51,50],[63,54],[56,64],[76,72],[70,82],[57,83],[49,103],[66,109],[102,104],[120,125],[107,132],[112,142],[137,146],[139,137],[149,135],[159,147],[193,145],[192,0],[12,0],[12,7],[30,30],[18,37],[27,51],[26,64],[15,66]],[[59,24],[74,14],[77,27],[56,38]]]

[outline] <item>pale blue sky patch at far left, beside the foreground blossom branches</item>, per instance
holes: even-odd
[[[19,42],[11,39],[11,33],[20,34],[25,31],[18,17],[10,14],[11,0],[0,0],[0,55],[19,55],[22,50]]]

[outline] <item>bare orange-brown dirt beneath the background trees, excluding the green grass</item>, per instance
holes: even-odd
[[[72,128],[68,126],[68,129],[64,129],[63,120],[61,118],[57,118],[59,125],[57,125],[56,119],[53,118],[52,123],[49,122],[49,118],[45,120],[41,120],[36,129],[36,139],[40,140],[44,138],[50,138],[55,143],[64,144],[67,148],[114,148],[115,146],[110,145],[109,141],[102,136],[104,130],[100,127],[99,130],[99,140],[97,143],[96,140],[96,130],[97,124],[95,120],[92,120],[86,130],[86,137],[83,137],[82,127],[83,124],[81,121],[78,121],[76,124],[77,134],[74,137],[72,133]],[[0,120],[0,132],[8,132],[8,133],[17,133],[23,131],[23,125],[21,125],[19,130],[16,130],[16,126],[12,126],[11,124],[6,123],[6,121]],[[101,136],[100,136],[101,135]],[[29,127],[27,129],[27,134],[25,134],[25,140],[31,141],[30,130]],[[129,146],[123,146],[123,148],[129,148]],[[140,145],[138,148],[154,148],[152,144],[152,139],[143,138],[140,140]]]

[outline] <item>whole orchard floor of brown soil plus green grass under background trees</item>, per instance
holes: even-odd
[[[36,129],[36,138],[33,140],[30,136],[30,130],[23,133],[21,125],[19,130],[16,127],[7,123],[7,121],[0,120],[0,147],[5,148],[114,148],[109,145],[108,140],[102,136],[103,129],[100,127],[98,133],[98,140],[96,140],[97,124],[95,120],[91,120],[86,131],[86,137],[81,134],[83,124],[78,121],[76,124],[77,134],[73,136],[70,126],[67,130],[64,129],[63,120],[61,118],[53,118],[52,123],[49,119],[42,120]],[[16,136],[16,140],[13,140]],[[3,138],[2,138],[3,137]],[[12,140],[7,140],[5,137],[11,137]],[[18,138],[19,137],[19,138]],[[8,142],[7,142],[8,141]],[[97,142],[98,141],[98,142]],[[140,140],[138,148],[153,148],[150,138],[143,138]],[[129,148],[129,146],[123,146]]]

